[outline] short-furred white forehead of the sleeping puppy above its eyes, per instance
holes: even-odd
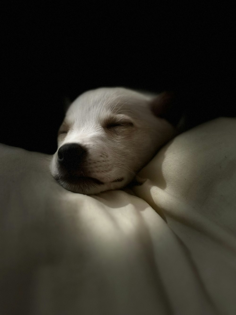
[[[125,88],[100,88],[80,95],[69,107],[66,116],[100,117],[109,113],[123,114],[146,107],[150,97]]]

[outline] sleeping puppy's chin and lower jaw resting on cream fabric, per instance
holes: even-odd
[[[120,189],[124,186],[123,180],[103,183],[100,180],[92,177],[63,178],[62,176],[58,175],[54,178],[66,190],[84,195],[94,195],[108,190]]]

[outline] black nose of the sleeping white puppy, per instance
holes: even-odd
[[[67,143],[58,149],[57,160],[60,166],[68,170],[78,169],[86,154],[86,149],[79,144]]]

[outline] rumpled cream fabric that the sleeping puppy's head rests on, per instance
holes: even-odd
[[[205,123],[97,196],[1,145],[0,314],[236,314],[235,139],[235,119]]]

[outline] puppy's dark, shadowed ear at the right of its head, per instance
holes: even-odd
[[[150,102],[153,114],[166,119],[173,126],[177,125],[183,114],[179,105],[177,94],[174,92],[162,92]]]

